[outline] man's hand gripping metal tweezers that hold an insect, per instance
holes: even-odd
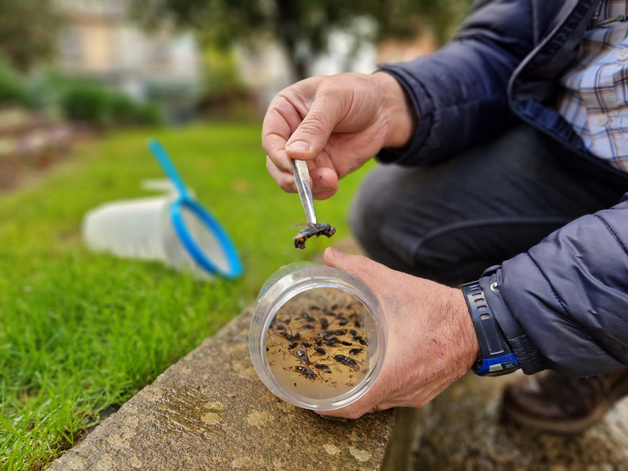
[[[281,91],[262,128],[267,169],[279,186],[297,193],[290,159],[308,160],[312,192],[325,200],[338,179],[382,147],[403,147],[414,119],[401,85],[387,73],[313,77]]]

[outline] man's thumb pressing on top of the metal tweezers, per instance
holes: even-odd
[[[307,116],[285,144],[285,153],[290,158],[308,160],[314,158],[327,144],[331,131],[336,126],[333,110],[315,100]]]

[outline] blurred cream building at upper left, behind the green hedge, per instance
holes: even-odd
[[[189,112],[200,86],[200,53],[192,33],[164,22],[145,31],[128,15],[125,0],[57,0],[65,24],[57,68]]]

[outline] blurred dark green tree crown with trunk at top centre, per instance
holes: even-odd
[[[313,59],[327,50],[334,29],[358,40],[414,38],[426,27],[444,41],[471,0],[132,0],[135,16],[148,26],[166,17],[193,27],[212,45],[241,41],[255,45],[274,37],[297,79],[308,77]],[[359,18],[375,20],[364,28]],[[359,41],[358,41],[359,42]],[[356,50],[357,47],[354,47]]]

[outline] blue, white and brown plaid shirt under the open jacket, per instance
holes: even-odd
[[[627,0],[604,0],[597,22],[627,14]],[[586,31],[560,87],[558,111],[585,146],[628,172],[628,22]]]

